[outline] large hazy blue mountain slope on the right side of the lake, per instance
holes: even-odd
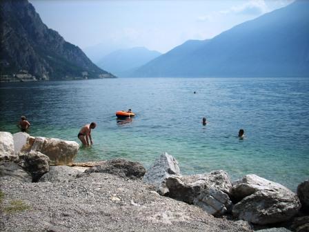
[[[195,45],[183,43],[132,76],[309,77],[309,2],[295,1]]]

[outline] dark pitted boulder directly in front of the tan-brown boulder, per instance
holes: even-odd
[[[32,174],[34,182],[50,170],[50,159],[39,151],[19,153],[19,166]]]

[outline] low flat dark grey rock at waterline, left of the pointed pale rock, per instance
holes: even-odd
[[[103,162],[98,166],[88,168],[85,173],[110,173],[121,177],[141,178],[146,169],[139,162],[125,159],[114,159]]]

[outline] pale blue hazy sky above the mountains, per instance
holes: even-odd
[[[83,50],[143,46],[167,52],[211,39],[293,0],[30,0],[43,23]]]

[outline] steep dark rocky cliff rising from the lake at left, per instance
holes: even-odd
[[[13,75],[26,70],[37,79],[114,77],[83,51],[49,29],[28,0],[5,0],[0,6],[0,70]]]

